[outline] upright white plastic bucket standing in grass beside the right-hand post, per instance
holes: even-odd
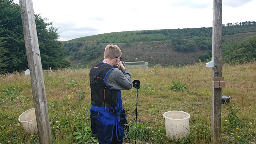
[[[190,114],[183,111],[168,111],[163,114],[165,118],[166,135],[175,140],[182,140],[190,134]]]

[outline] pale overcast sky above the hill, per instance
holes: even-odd
[[[15,0],[18,2],[18,0]],[[213,0],[32,0],[60,41],[111,32],[212,27]],[[222,0],[222,23],[256,21],[256,0]]]

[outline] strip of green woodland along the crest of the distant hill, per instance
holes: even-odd
[[[241,24],[223,24],[223,36],[238,33],[256,32],[255,21],[240,22]],[[231,25],[231,26],[230,26]],[[132,43],[138,41],[161,41],[173,38],[189,39],[193,37],[212,37],[212,27],[185,28],[185,29],[162,29],[162,30],[142,30],[113,32],[87,37],[81,37],[72,41],[98,41],[100,43]]]

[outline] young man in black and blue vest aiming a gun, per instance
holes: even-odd
[[[94,65],[89,74],[91,131],[102,144],[122,143],[129,130],[120,90],[131,89],[132,81],[121,56],[118,46],[107,45],[104,60]]]

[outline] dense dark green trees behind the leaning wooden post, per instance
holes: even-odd
[[[13,72],[28,69],[22,20],[19,5],[13,0],[0,0],[0,72]],[[46,18],[35,14],[36,29],[41,53],[42,68],[52,69],[70,66],[65,60],[65,51],[59,38],[57,28]]]

